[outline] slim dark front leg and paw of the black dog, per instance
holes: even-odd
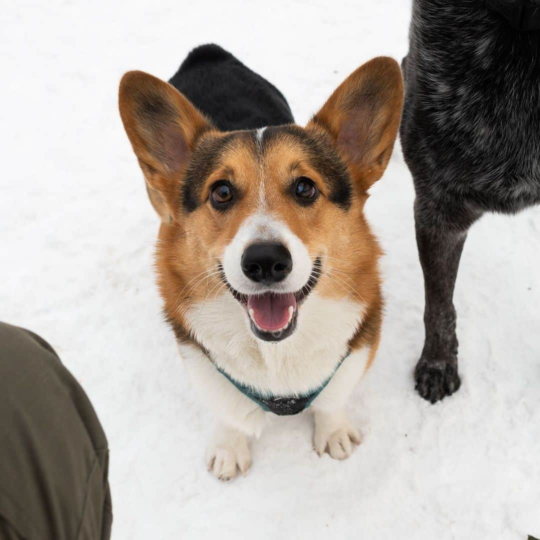
[[[416,365],[416,390],[431,403],[456,392],[457,374],[456,310],[454,285],[467,231],[474,218],[455,216],[459,227],[428,227],[415,205],[416,242],[424,273],[426,341]]]

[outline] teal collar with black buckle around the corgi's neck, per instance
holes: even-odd
[[[294,414],[301,413],[313,403],[313,400],[322,392],[322,390],[326,388],[327,384],[332,380],[332,377],[335,375],[336,371],[338,371],[339,367],[341,366],[343,361],[349,356],[349,354],[350,351],[348,351],[347,354],[341,358],[338,365],[334,368],[332,374],[325,382],[321,384],[318,389],[315,390],[315,392],[313,392],[312,394],[294,397],[281,397],[272,395],[261,396],[253,392],[253,390],[245,384],[234,380],[231,375],[229,375],[219,366],[217,366],[215,362],[212,363],[214,364],[215,369],[217,369],[218,372],[221,373],[221,375],[226,377],[229,382],[234,384],[234,386],[237,387],[242,394],[257,403],[262,410],[265,410],[267,413],[277,414],[279,416],[292,416]]]

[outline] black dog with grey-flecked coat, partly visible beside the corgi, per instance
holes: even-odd
[[[415,380],[435,402],[460,387],[452,298],[469,227],[540,202],[540,0],[414,0],[403,70],[426,287]]]

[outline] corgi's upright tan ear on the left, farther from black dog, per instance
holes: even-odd
[[[162,221],[170,222],[194,145],[213,127],[174,86],[142,71],[122,77],[118,106],[152,205]]]

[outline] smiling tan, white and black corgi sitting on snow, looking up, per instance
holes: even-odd
[[[314,447],[360,442],[345,406],[373,362],[381,249],[363,214],[393,151],[399,64],[361,66],[305,127],[272,84],[217,45],[170,83],[130,71],[119,109],[161,219],[158,286],[217,426],[220,480],[245,475],[268,418],[314,414]]]

